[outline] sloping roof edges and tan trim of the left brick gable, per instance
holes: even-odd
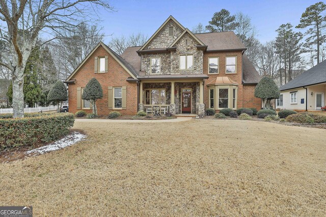
[[[85,59],[82,61],[82,63],[79,64],[79,66],[69,75],[69,77],[66,79],[65,82],[68,82],[71,80],[71,78],[78,72],[80,68],[86,63],[86,61],[92,56],[92,54],[99,48],[99,46],[102,46],[129,74],[133,79],[137,79],[137,73],[134,72],[133,68],[130,64],[127,63],[121,56],[119,56],[116,52],[114,52],[111,48],[106,46],[103,42],[99,42],[94,49],[85,57]]]

